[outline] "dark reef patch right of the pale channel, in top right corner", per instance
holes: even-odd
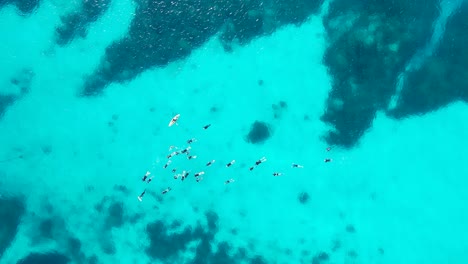
[[[390,114],[396,118],[425,114],[454,101],[468,102],[468,3],[455,11],[435,53],[409,72]]]

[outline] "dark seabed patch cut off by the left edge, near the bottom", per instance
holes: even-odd
[[[15,238],[24,212],[23,200],[0,196],[0,257]]]

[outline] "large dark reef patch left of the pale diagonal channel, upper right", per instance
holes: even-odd
[[[353,147],[386,110],[397,78],[430,39],[438,0],[337,0],[324,25],[331,41],[324,63],[333,76],[322,121],[334,126],[330,145]]]

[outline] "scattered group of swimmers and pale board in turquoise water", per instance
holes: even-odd
[[[175,125],[178,125],[178,124],[177,124],[177,121],[179,120],[179,117],[180,117],[180,114],[177,114],[176,116],[174,116],[174,117],[171,119],[171,121],[169,122],[169,127],[173,126],[174,124],[175,124]],[[205,126],[203,127],[203,129],[206,130],[206,129],[208,129],[210,126],[211,126],[211,124],[205,125]],[[164,164],[163,168],[166,169],[167,167],[169,167],[169,165],[172,163],[171,158],[174,157],[174,156],[180,155],[180,154],[185,154],[185,155],[187,155],[187,159],[189,159],[189,160],[190,160],[190,159],[196,159],[197,156],[195,156],[195,155],[190,155],[190,150],[192,149],[192,147],[190,146],[190,144],[192,144],[192,143],[194,143],[194,142],[196,142],[196,139],[195,139],[195,138],[191,138],[191,139],[187,140],[187,144],[188,144],[189,146],[186,147],[185,149],[180,150],[180,151],[177,151],[177,147],[175,147],[175,146],[170,146],[170,147],[169,147],[169,151],[171,151],[171,150],[173,150],[173,149],[174,149],[174,151],[171,152],[169,155],[167,155],[167,162],[166,162],[166,164]],[[328,148],[327,148],[327,151],[330,151],[330,150],[331,150],[331,148],[328,147]],[[261,159],[257,160],[257,161],[255,162],[255,165],[253,165],[252,167],[250,167],[249,170],[250,170],[250,171],[254,170],[257,166],[259,166],[260,164],[262,164],[262,163],[264,163],[264,162],[266,162],[266,161],[267,161],[267,159],[266,159],[265,157],[262,157]],[[328,162],[331,162],[331,161],[332,161],[332,159],[330,159],[330,158],[327,158],[327,159],[324,160],[325,163],[328,163]],[[236,160],[230,161],[229,163],[226,164],[226,167],[227,167],[227,168],[231,167],[232,165],[234,165],[235,162],[236,162]],[[209,167],[209,166],[211,166],[213,163],[215,163],[215,160],[211,160],[211,161],[207,162],[207,163],[206,163],[206,166]],[[300,164],[297,164],[297,163],[293,163],[293,164],[291,165],[291,167],[292,167],[292,168],[304,168],[304,166],[302,166],[302,165],[300,165]],[[175,173],[176,170],[177,170],[177,169],[175,169],[175,168],[172,169],[172,173]],[[177,179],[180,178],[182,181],[184,181],[184,180],[189,176],[189,174],[190,174],[190,172],[184,170],[184,171],[182,171],[182,173],[180,173],[180,174],[175,174],[175,175],[174,175],[174,179],[177,180]],[[197,182],[202,181],[202,180],[203,180],[203,175],[204,175],[204,174],[205,174],[204,171],[200,171],[200,172],[195,173],[194,176],[195,176],[196,181],[197,181]],[[273,176],[275,176],[275,177],[281,176],[281,175],[283,175],[281,172],[273,172]],[[154,178],[154,176],[151,176],[151,172],[147,171],[146,174],[143,175],[142,181],[143,181],[143,182],[146,182],[146,183],[150,183],[150,182],[153,180],[153,178]],[[224,184],[233,183],[234,181],[235,181],[234,179],[228,179],[228,180],[224,181]],[[164,190],[161,192],[161,194],[164,195],[164,194],[168,193],[169,191],[171,191],[171,188],[170,188],[170,187],[167,187],[166,189],[164,189]],[[143,192],[137,197],[138,200],[139,200],[140,202],[143,201],[143,196],[145,195],[145,193],[146,193],[146,189],[143,190]]]

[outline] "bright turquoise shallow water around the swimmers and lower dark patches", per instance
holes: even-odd
[[[79,1],[0,9],[0,94],[14,98],[0,117],[0,263],[467,262],[468,105],[400,119],[377,110],[352,147],[327,142],[328,4],[232,51],[214,34],[90,97],[83,83],[137,3],[110,2],[64,46],[56,27]],[[270,135],[254,144],[256,121]],[[190,138],[197,158],[164,169],[169,147]]]

